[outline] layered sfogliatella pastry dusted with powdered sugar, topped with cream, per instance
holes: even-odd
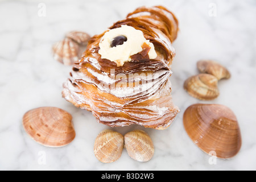
[[[179,113],[168,80],[177,31],[166,8],[139,7],[89,40],[63,84],[63,97],[108,126],[166,129]]]

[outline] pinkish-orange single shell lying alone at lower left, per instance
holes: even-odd
[[[65,146],[76,136],[72,115],[57,107],[27,111],[23,116],[23,127],[32,139],[48,147]]]

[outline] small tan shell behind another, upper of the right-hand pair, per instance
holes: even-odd
[[[228,69],[212,60],[201,60],[197,62],[197,68],[201,73],[216,76],[218,80],[230,78]]]

